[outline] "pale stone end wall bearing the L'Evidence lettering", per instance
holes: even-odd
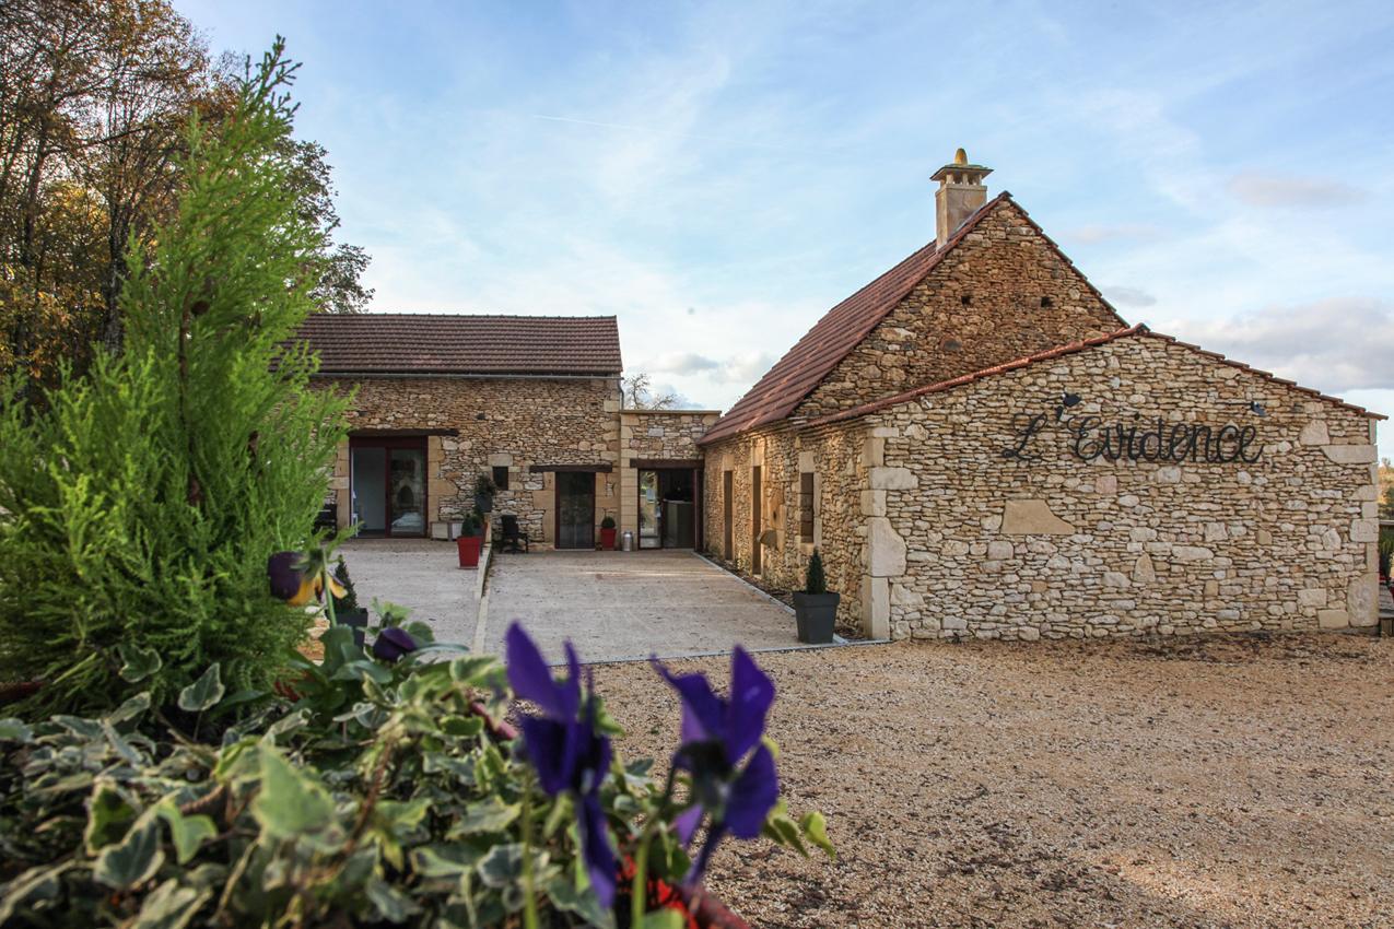
[[[1061,408],[1066,394],[1079,403]],[[1094,416],[1142,432],[1158,416],[1167,429],[1252,426],[1246,457],[1262,455],[1083,461],[1057,408],[1066,423]],[[1025,451],[1039,460],[1004,457],[1037,414],[1047,418]],[[896,638],[1376,621],[1374,423],[1351,408],[1133,336],[891,407],[867,425],[881,443],[868,489],[884,493],[884,515],[868,517],[866,563],[868,582],[887,588]],[[1235,439],[1221,451],[1232,455]]]

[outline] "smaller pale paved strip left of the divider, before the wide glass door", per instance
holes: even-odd
[[[461,570],[454,545],[431,539],[351,539],[339,552],[348,564],[358,606],[372,599],[411,610],[431,624],[436,642],[474,641],[478,572]],[[369,620],[376,623],[376,614]]]

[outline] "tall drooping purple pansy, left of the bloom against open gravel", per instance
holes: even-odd
[[[505,639],[513,692],[542,710],[542,716],[523,717],[523,748],[542,790],[552,797],[570,793],[576,798],[581,857],[595,896],[608,908],[615,903],[616,864],[601,806],[601,783],[609,772],[611,742],[595,730],[594,687],[587,680],[581,692],[581,664],[570,642],[567,676],[558,681],[521,625],[513,623]]]

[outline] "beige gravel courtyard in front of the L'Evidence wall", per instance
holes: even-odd
[[[758,660],[792,811],[839,861],[728,843],[757,926],[1394,925],[1394,643],[891,645]],[[725,682],[728,659],[673,662]],[[676,702],[597,669],[664,752]]]

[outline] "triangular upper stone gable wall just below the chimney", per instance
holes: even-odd
[[[795,415],[849,409],[1124,326],[1022,209],[1002,201]]]

